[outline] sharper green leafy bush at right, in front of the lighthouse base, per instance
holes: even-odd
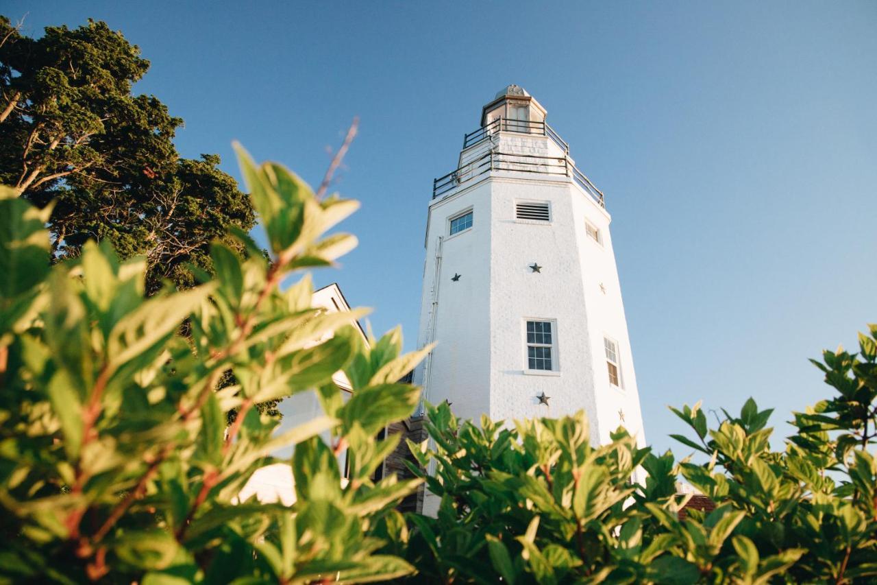
[[[859,354],[814,362],[834,394],[795,413],[772,451],[771,410],[746,401],[709,429],[700,405],[674,409],[697,451],[640,449],[618,429],[593,446],[579,413],[513,427],[428,408],[412,471],[440,498],[436,517],[388,547],[417,582],[766,583],[877,581],[877,326]],[[434,469],[427,473],[424,470]],[[716,509],[679,512],[681,475]],[[637,478],[634,482],[631,478]]]

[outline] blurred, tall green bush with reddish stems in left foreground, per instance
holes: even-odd
[[[319,200],[280,165],[241,167],[272,254],[232,232],[216,276],[146,298],[144,258],[111,246],[50,265],[46,220],[0,192],[0,581],[305,583],[409,574],[376,553],[403,526],[394,506],[420,480],[373,480],[398,442],[379,430],[413,411],[397,383],[423,352],[398,330],[363,343],[363,312],[311,307],[305,276],[355,245],[326,230],[358,206]],[[186,323],[185,335],[182,324]],[[236,384],[217,382],[232,371]],[[344,401],[332,382],[346,372]],[[255,404],[316,392],[324,415],[279,432]],[[225,413],[238,415],[228,426]],[[295,445],[297,501],[239,502],[271,453]],[[339,456],[346,451],[347,480]]]

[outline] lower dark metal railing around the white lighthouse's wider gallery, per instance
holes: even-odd
[[[475,177],[481,177],[493,170],[506,170],[521,173],[538,173],[542,175],[560,175],[572,178],[576,184],[588,192],[600,206],[605,207],[602,191],[597,189],[581,170],[575,168],[568,156],[515,155],[512,153],[484,153],[473,161],[467,162],[457,170],[452,170],[444,177],[433,179],[432,199],[453,191],[461,184]]]

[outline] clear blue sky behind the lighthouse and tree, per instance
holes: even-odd
[[[248,5],[249,4],[249,5]],[[431,181],[508,83],[529,90],[606,193],[648,441],[667,404],[793,409],[807,358],[877,321],[877,3],[19,2],[25,32],[103,19],[186,120],[183,155],[230,142],[323,176],[362,210],[338,281],[375,331],[417,338]]]

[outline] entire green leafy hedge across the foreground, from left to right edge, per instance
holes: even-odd
[[[357,204],[241,166],[272,259],[233,229],[246,259],[216,242],[215,277],[193,269],[201,284],[149,299],[144,260],[107,242],[51,266],[50,208],[0,191],[0,581],[877,579],[877,326],[858,354],[814,362],[836,392],[795,413],[783,451],[752,400],[713,430],[699,404],[674,410],[691,430],[674,437],[705,463],[620,428],[591,445],[582,413],[476,425],[444,404],[428,408],[430,440],[410,443],[419,479],[375,481],[398,443],[375,435],[419,399],[396,380],[430,348],[400,357],[398,330],[362,343],[349,324],[362,312],[311,308],[308,277],[281,290],[353,247],[322,235]],[[324,415],[282,433],[254,408],[310,391]],[[295,504],[238,502],[291,444]],[[680,474],[716,508],[681,518]],[[406,524],[394,506],[421,481],[438,515]]]

